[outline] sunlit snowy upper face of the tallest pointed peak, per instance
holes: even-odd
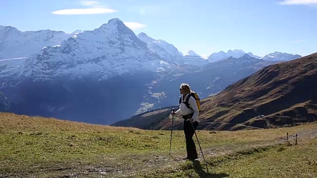
[[[89,76],[103,80],[138,70],[156,71],[159,62],[160,57],[122,21],[111,19],[98,29],[79,33],[61,45],[44,48],[41,54],[29,58],[15,76],[36,77],[37,80]]]

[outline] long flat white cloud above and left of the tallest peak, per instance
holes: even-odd
[[[113,9],[108,8],[82,8],[82,9],[62,9],[53,11],[57,15],[81,15],[81,14],[103,14],[115,12]]]

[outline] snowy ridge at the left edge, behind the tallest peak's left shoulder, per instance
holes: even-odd
[[[0,59],[28,57],[45,46],[60,45],[73,35],[52,30],[21,32],[11,26],[0,26]]]

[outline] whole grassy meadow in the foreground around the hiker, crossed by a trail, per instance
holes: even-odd
[[[170,157],[170,131],[108,127],[7,113],[0,113],[0,123],[0,178],[211,176],[205,174],[203,159],[200,164],[174,160],[186,156],[183,131],[173,131]],[[309,133],[305,134],[316,128],[317,124],[305,124],[269,130],[196,133],[212,176],[273,178],[281,176],[281,172],[287,177],[295,173],[316,173],[314,144],[317,142],[309,139]],[[299,136],[300,145],[276,147],[286,143],[281,140],[286,138],[286,132],[290,137],[304,132]],[[292,173],[288,168],[297,171]]]

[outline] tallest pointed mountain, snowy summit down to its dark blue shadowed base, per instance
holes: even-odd
[[[28,58],[0,61],[0,90],[15,113],[107,124],[133,115],[147,85],[171,67],[114,18]]]

